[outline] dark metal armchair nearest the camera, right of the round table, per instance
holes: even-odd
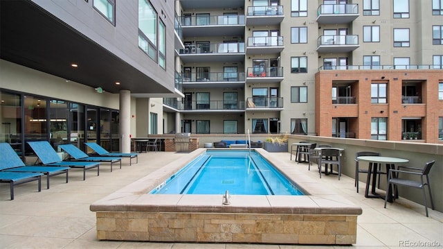
[[[426,201],[426,191],[424,191],[424,187],[428,186],[429,191],[429,198],[431,199],[431,208],[434,209],[434,203],[432,200],[432,194],[431,194],[431,183],[429,182],[429,171],[431,171],[432,166],[434,165],[435,160],[432,160],[431,162],[426,162],[426,165],[423,169],[421,168],[415,168],[415,167],[408,167],[408,166],[398,166],[397,169],[390,169],[388,173],[388,188],[395,187],[395,198],[398,198],[397,194],[397,185],[404,186],[404,187],[413,187],[416,189],[422,189],[423,191],[423,198],[424,198],[424,209],[426,210],[426,217],[429,217],[428,215],[428,202]],[[404,169],[404,170],[403,170]],[[410,178],[400,178],[401,176],[410,176],[413,177],[419,176],[420,180],[410,180]],[[426,181],[424,181],[424,176],[426,176]],[[388,189],[389,191],[389,189]],[[394,198],[394,199],[395,199]],[[388,200],[388,195],[386,195],[385,198],[385,208],[386,208],[386,201]]]

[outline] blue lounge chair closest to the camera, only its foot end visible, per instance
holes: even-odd
[[[8,144],[9,145],[9,144]],[[3,150],[2,150],[3,151]],[[13,151],[13,150],[12,150]],[[14,152],[15,153],[15,152]],[[18,157],[18,155],[17,155]],[[20,159],[20,157],[19,157]],[[6,163],[8,163],[8,157],[1,157],[0,169],[7,169]],[[20,160],[21,161],[21,160]],[[23,162],[21,162],[23,163]],[[25,182],[38,181],[38,191],[42,191],[42,173],[34,172],[8,172],[0,171],[0,182],[6,182],[10,185],[11,200],[14,200],[14,186]]]

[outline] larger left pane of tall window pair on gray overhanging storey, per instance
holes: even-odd
[[[157,13],[147,0],[138,0],[138,47],[157,62]]]

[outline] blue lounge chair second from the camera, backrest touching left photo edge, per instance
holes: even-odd
[[[26,166],[10,144],[0,143],[0,170],[1,172],[43,173],[46,175],[46,188],[49,189],[51,176],[66,174],[66,183],[68,182],[69,167]]]

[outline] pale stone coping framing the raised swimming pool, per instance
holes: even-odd
[[[306,196],[247,196],[231,195],[230,205],[223,205],[223,195],[147,194],[173,173],[206,150],[225,148],[199,148],[180,160],[171,162],[132,184],[109,194],[90,205],[93,212],[208,212],[242,214],[312,214],[357,216],[361,207],[329,190],[326,184],[312,179],[293,161],[283,161],[262,148],[254,148],[269,160],[289,180],[308,192]],[[236,150],[230,148],[228,150]],[[244,149],[243,149],[244,150]],[[316,170],[316,169],[313,169]]]

